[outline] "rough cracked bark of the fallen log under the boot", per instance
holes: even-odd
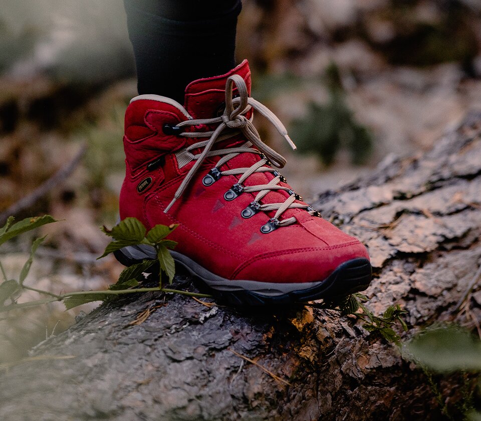
[[[404,337],[437,320],[466,322],[453,310],[481,263],[481,114],[432,151],[387,159],[315,207],[369,246],[368,306],[407,310]],[[191,279],[177,282],[189,287]],[[469,299],[479,319],[481,291]],[[354,317],[328,310],[263,314],[139,295],[100,306],[32,355],[75,358],[24,361],[1,373],[4,421],[440,418],[421,370]]]

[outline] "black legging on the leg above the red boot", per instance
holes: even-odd
[[[192,80],[235,66],[240,0],[124,0],[139,94],[183,103]]]

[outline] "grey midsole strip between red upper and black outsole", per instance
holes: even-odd
[[[322,282],[302,282],[302,283],[290,283],[290,284],[278,284],[273,282],[259,282],[259,281],[247,281],[247,280],[231,280],[222,278],[218,275],[209,272],[207,269],[200,266],[198,263],[189,259],[180,253],[173,250],[169,250],[174,260],[183,265],[190,273],[201,278],[210,288],[219,291],[254,291],[269,296],[277,296],[287,294],[293,291],[303,291],[309,288],[313,288]],[[143,260],[143,259],[156,259],[157,254],[155,249],[151,246],[138,245],[124,247],[120,250],[129,259]]]

